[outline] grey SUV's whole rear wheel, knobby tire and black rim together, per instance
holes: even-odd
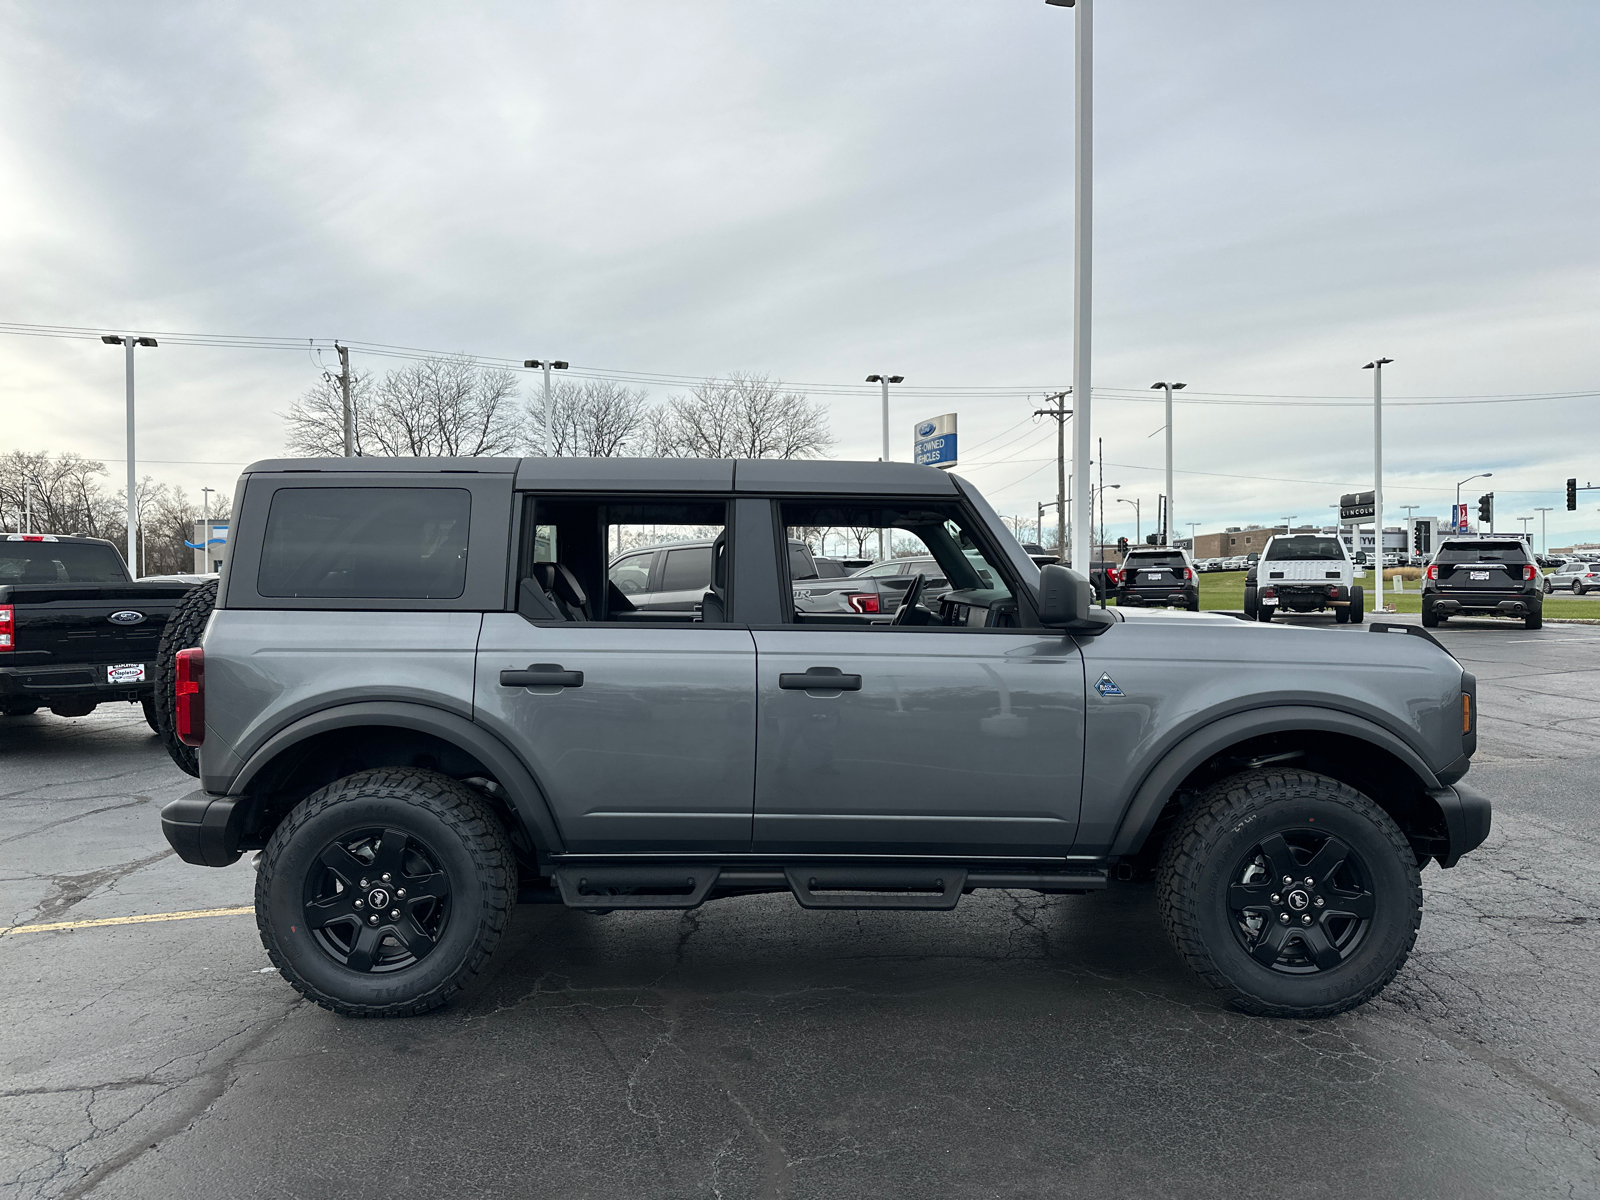
[[[360,771],[306,797],[256,875],[272,965],[344,1016],[413,1016],[461,990],[517,902],[506,830],[435,771]]]

